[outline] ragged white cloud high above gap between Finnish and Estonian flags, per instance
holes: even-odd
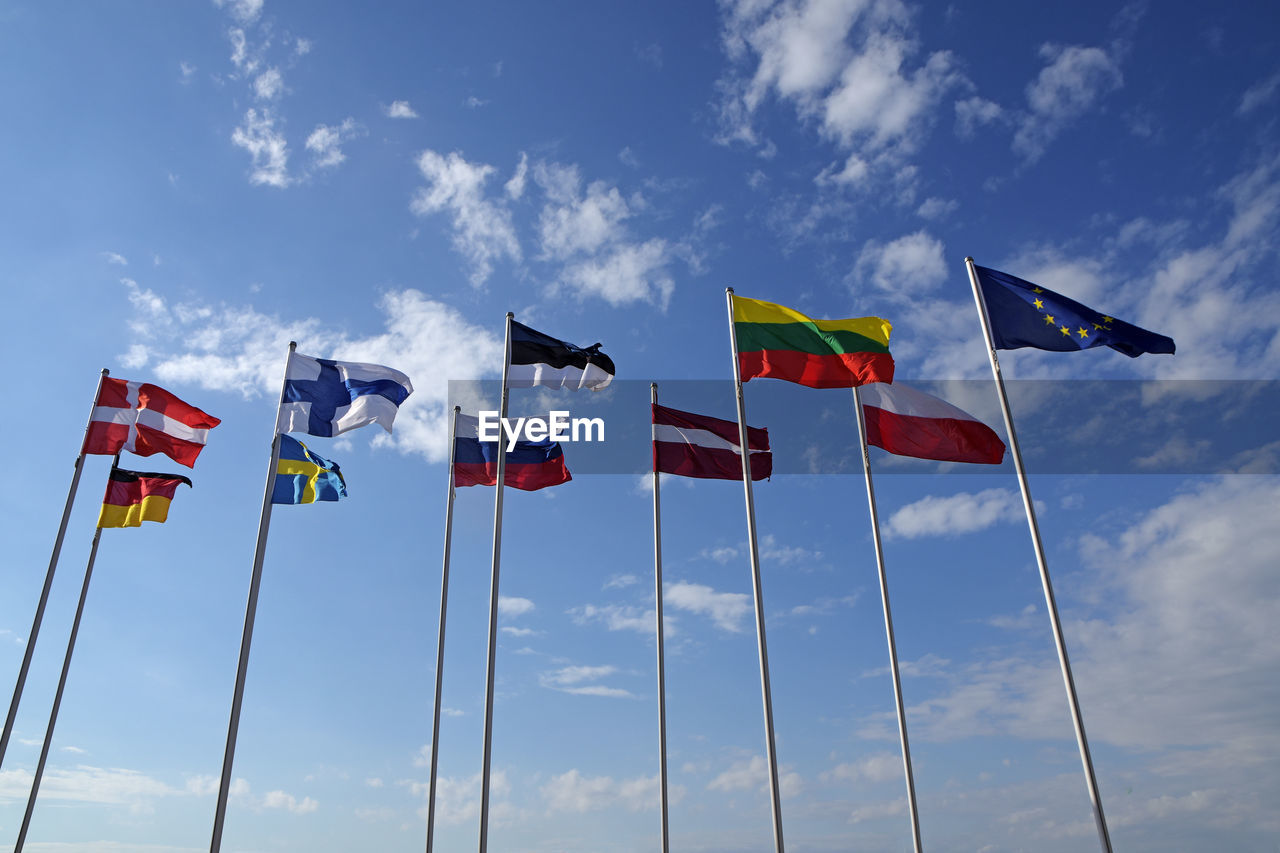
[[[424,216],[449,213],[453,248],[471,263],[472,284],[484,284],[493,274],[493,264],[503,257],[520,261],[511,211],[484,195],[484,184],[495,172],[493,167],[467,163],[457,151],[448,156],[424,151],[417,168],[428,186],[417,191],[410,209]]]

